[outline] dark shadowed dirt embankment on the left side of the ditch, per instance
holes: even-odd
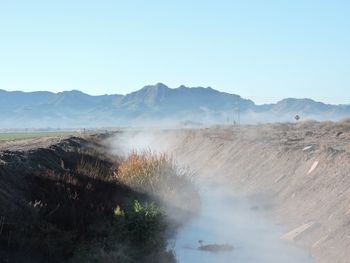
[[[145,198],[111,181],[100,138],[45,138],[0,148],[0,261],[63,262],[110,232],[117,204]],[[98,230],[94,228],[99,228]]]

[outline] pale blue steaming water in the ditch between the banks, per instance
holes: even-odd
[[[247,200],[224,188],[216,185],[202,189],[200,214],[180,229],[173,241],[178,262],[312,262],[306,250],[281,240],[281,229],[252,209]],[[211,244],[232,245],[234,249],[198,250]]]

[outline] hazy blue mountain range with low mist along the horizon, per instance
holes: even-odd
[[[256,105],[212,88],[170,89],[162,83],[127,95],[90,96],[81,91],[0,90],[0,128],[82,128],[128,125],[181,125],[337,120],[350,117],[350,105],[288,98]]]

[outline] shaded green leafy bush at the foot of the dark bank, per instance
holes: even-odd
[[[77,249],[71,262],[175,262],[166,248],[164,219],[155,203],[134,200],[124,210],[117,206],[112,221],[91,228],[99,237]]]

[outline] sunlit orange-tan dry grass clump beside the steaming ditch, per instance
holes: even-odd
[[[198,212],[200,197],[194,174],[177,167],[166,154],[133,152],[121,162],[115,176],[122,184],[158,200],[171,225],[181,225]]]

